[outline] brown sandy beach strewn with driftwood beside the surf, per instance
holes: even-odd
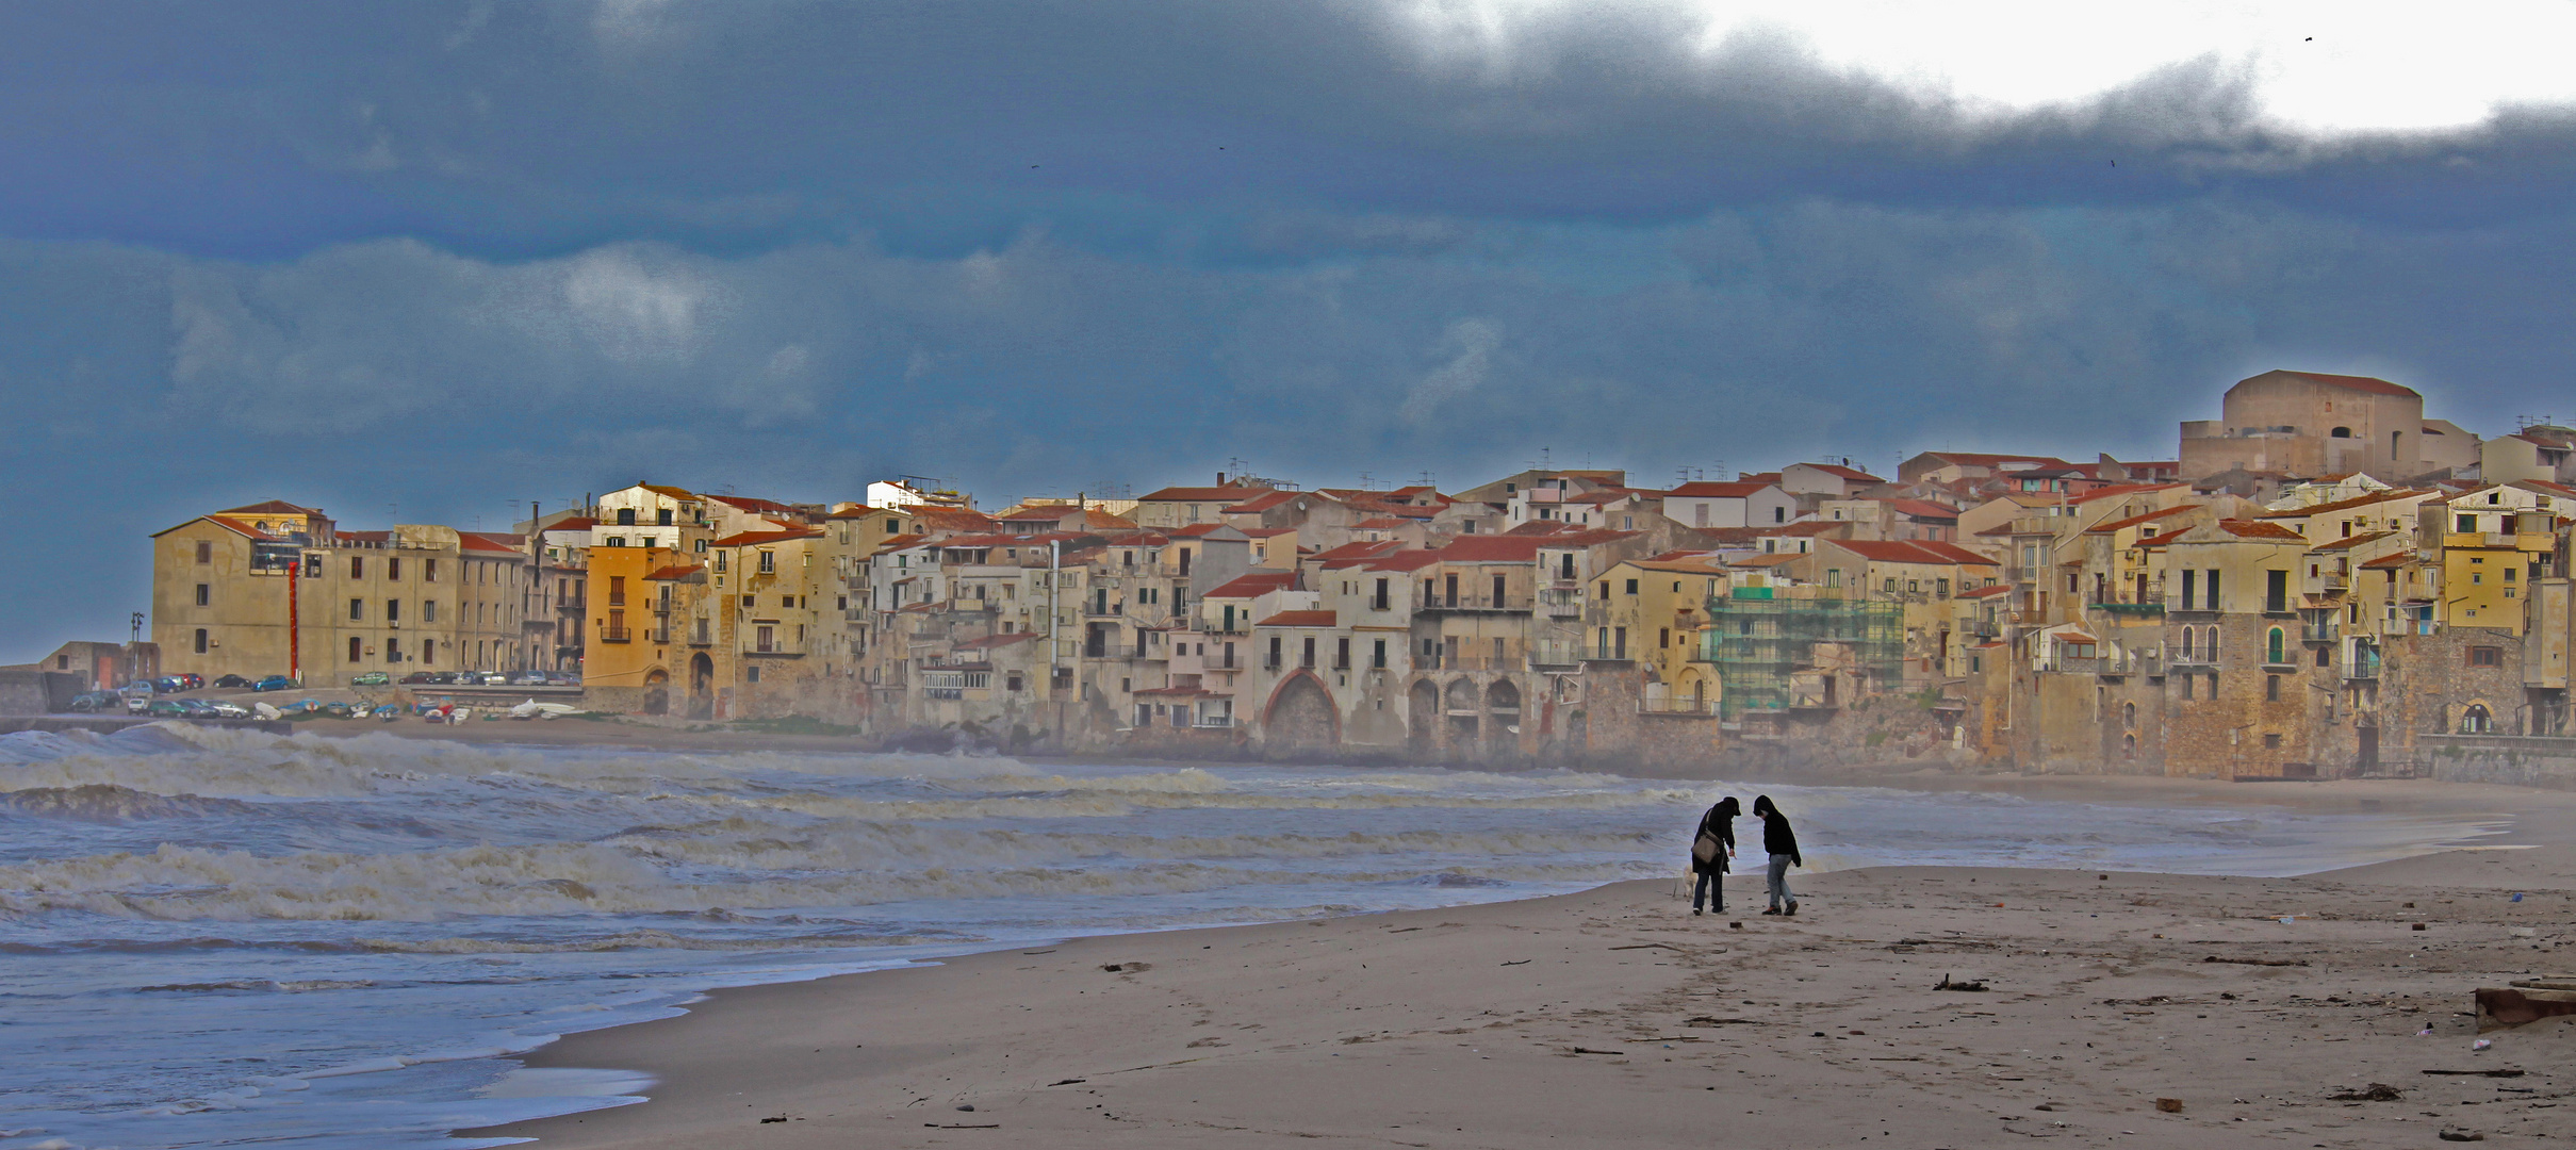
[[[2187,784],[2030,784],[2218,802]],[[2576,802],[2434,784],[2233,794],[2483,807],[2514,825],[2300,879],[1855,869],[1795,877],[1795,918],[1759,915],[1757,874],[1731,877],[1728,913],[1705,918],[1649,879],[719,990],[528,1057],[649,1073],[652,1101],[477,1135],[783,1150],[2576,1137],[2576,1021],[2473,1052],[2468,1013],[2481,985],[2576,972]],[[2336,1098],[2372,1083],[2398,1096]]]

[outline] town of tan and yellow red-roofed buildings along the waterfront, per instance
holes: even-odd
[[[160,531],[149,629],[206,681],[562,673],[592,712],[873,745],[2403,774],[2566,732],[2576,431],[2524,423],[2267,371],[2161,462],[1007,505],[636,482],[507,534],[281,498]]]

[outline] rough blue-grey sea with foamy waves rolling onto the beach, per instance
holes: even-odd
[[[1757,792],[1819,872],[2303,874],[2499,830],[1582,771],[18,732],[0,1150],[505,1145],[451,1132],[652,1093],[513,1055],[711,988],[1674,877],[1700,810]]]

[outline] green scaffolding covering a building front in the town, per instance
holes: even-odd
[[[1839,647],[1826,660],[1834,663],[1832,670],[1860,676],[1870,691],[1904,686],[1901,603],[1775,598],[1775,590],[1788,588],[1734,588],[1708,601],[1710,627],[1700,632],[1700,658],[1718,668],[1723,717],[1798,707],[1790,676],[1819,670],[1819,647]]]

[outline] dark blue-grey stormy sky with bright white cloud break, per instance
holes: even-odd
[[[2166,459],[2272,366],[2576,418],[2576,8],[2416,15],[0,5],[0,660],[260,498]]]

